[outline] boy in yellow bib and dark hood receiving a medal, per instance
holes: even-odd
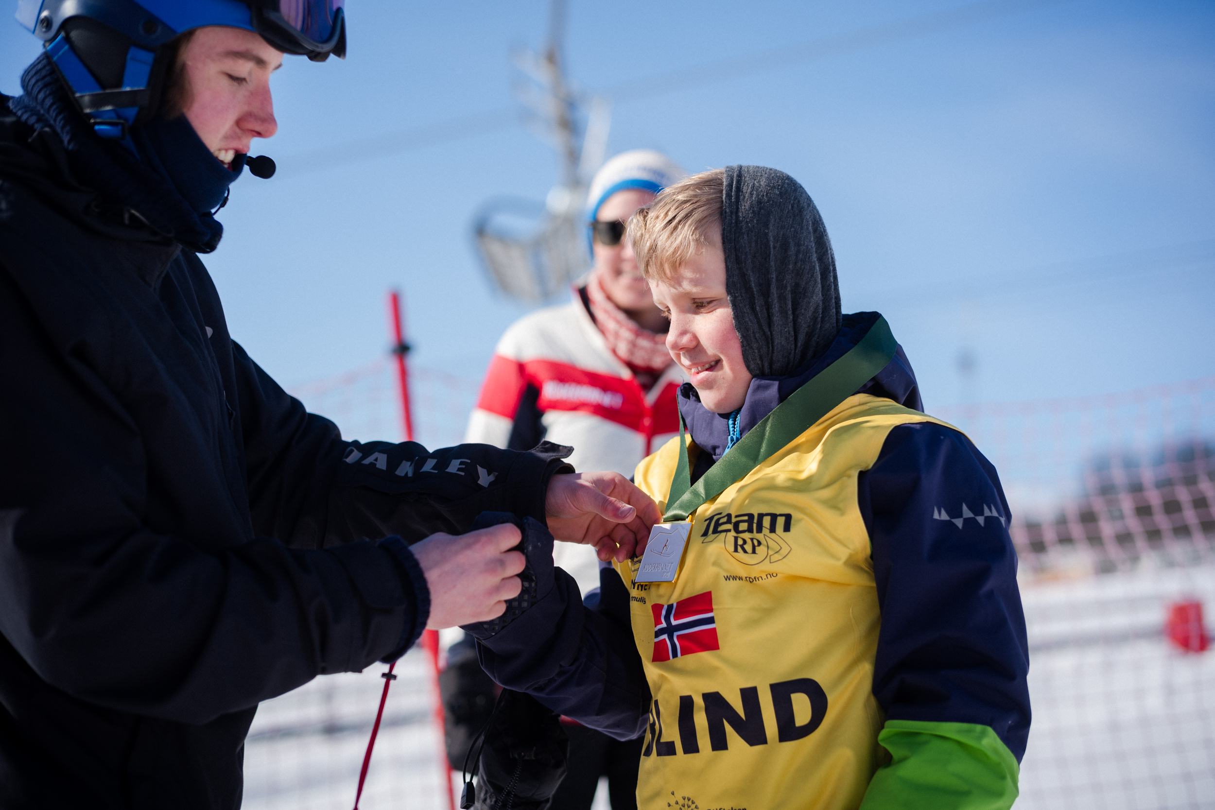
[[[1008,808],[1029,662],[995,470],[921,412],[885,319],[841,315],[792,177],[695,175],[628,231],[691,380],[688,436],[635,474],[665,525],[589,608],[529,546],[486,670],[644,730],[642,810]]]

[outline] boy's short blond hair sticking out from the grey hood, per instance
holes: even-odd
[[[711,169],[663,188],[628,220],[637,266],[650,281],[669,282],[705,248],[722,248],[725,170]]]

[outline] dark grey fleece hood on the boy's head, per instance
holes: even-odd
[[[727,166],[725,293],[752,376],[785,376],[840,333],[840,284],[826,226],[801,183],[776,169]]]

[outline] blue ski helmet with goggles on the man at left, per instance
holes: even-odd
[[[284,53],[346,56],[344,0],[18,0],[17,22],[46,43],[97,135],[125,138],[156,112],[164,47],[204,26],[243,28]]]

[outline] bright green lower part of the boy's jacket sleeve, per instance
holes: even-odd
[[[887,720],[877,742],[891,761],[861,810],[1007,810],[1017,799],[1017,758],[989,726]]]

